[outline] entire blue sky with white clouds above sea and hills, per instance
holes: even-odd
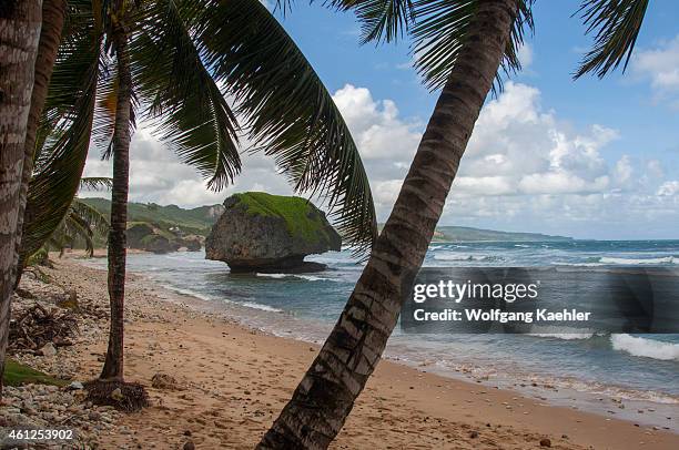
[[[276,13],[347,122],[381,222],[415,154],[438,92],[412,68],[409,41],[359,45],[352,13],[297,2]],[[577,1],[537,1],[524,70],[489,96],[440,225],[598,239],[679,238],[679,2],[650,3],[631,62],[604,80],[572,80],[591,44]],[[92,151],[88,176],[110,176]],[[193,207],[243,191],[291,194],[273,161],[244,156],[214,193],[142,123],[131,146],[130,201]],[[102,196],[102,193],[82,193]]]

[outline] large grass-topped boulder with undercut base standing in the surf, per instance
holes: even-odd
[[[340,250],[342,238],[325,214],[301,197],[263,192],[235,194],[205,239],[205,257],[223,260],[231,272],[315,272],[311,254]]]

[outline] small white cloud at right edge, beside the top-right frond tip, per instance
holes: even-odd
[[[631,61],[631,72],[648,81],[657,100],[675,102],[679,94],[679,34],[661,41],[655,48],[637,51]]]

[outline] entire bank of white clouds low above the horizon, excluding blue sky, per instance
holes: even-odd
[[[374,99],[366,88],[346,84],[333,98],[358,145],[384,221],[424,123],[404,117],[395,101]],[[679,221],[679,181],[666,178],[662,162],[616,149],[622,137],[602,124],[575,127],[541,105],[538,89],[508,82],[482,110],[440,223],[580,237],[637,236],[639,228],[673,235],[663,224]],[[243,162],[235,184],[213,193],[142,124],[131,147],[130,200],[196,206],[221,203],[234,192],[292,192],[271,157],[244,155]],[[85,173],[110,176],[111,163],[93,154]]]

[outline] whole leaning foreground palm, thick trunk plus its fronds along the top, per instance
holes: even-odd
[[[364,23],[365,40],[408,31],[417,68],[443,88],[415,158],[340,319],[260,449],[324,449],[342,429],[379,361],[440,217],[459,161],[498,69],[519,68],[525,0],[338,0]],[[595,45],[576,76],[629,61],[647,0],[585,0]],[[405,28],[405,30],[404,30]]]

